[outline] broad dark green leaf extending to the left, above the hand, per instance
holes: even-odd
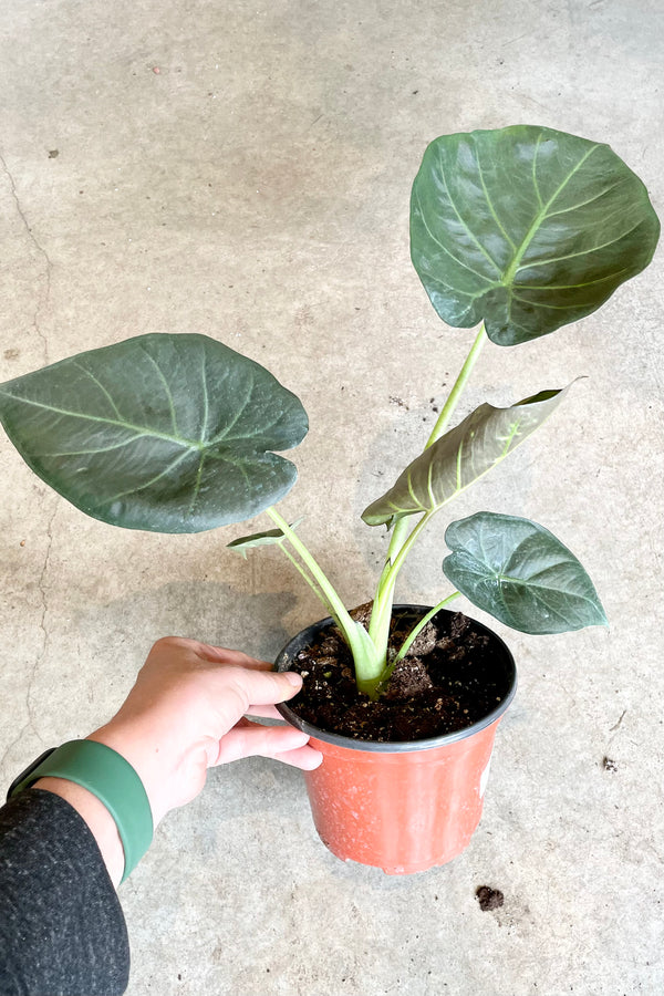
[[[199,532],[262,511],[294,466],[300,401],[264,367],[205,335],[139,335],[0,385],[0,418],[25,461],[95,519]]]

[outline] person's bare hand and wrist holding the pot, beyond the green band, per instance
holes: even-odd
[[[263,726],[246,715],[280,718],[274,703],[295,695],[302,678],[239,651],[167,636],[151,650],[124,705],[87,739],[117,750],[138,774],[154,824],[203,789],[207,769],[260,755],[303,770],[322,757],[307,734]]]

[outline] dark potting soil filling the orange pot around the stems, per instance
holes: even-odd
[[[363,619],[365,609],[351,614]],[[415,619],[395,612],[395,646]],[[478,623],[460,612],[440,613],[413,644],[419,652],[397,664],[386,692],[373,702],[357,692],[351,653],[331,626],[291,663],[304,684],[288,705],[320,729],[360,740],[423,740],[465,729],[497,708],[509,691],[489,644]]]

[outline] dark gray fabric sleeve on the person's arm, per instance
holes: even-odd
[[[124,915],[90,828],[53,792],[0,809],[1,996],[120,996]]]

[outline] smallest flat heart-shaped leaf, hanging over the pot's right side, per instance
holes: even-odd
[[[478,609],[522,633],[566,633],[606,625],[594,585],[573,553],[543,526],[477,512],[453,522],[454,552],[443,570]]]

